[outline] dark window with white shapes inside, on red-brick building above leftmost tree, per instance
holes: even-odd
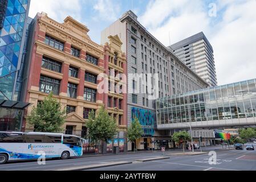
[[[40,76],[39,91],[44,93],[50,93],[51,91],[55,94],[59,94],[60,81],[47,76]]]

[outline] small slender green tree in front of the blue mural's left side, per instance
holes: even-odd
[[[136,140],[144,134],[142,126],[140,125],[139,119],[135,118],[132,122],[132,125],[128,127],[127,138],[129,142],[132,142],[136,147]],[[133,152],[135,152],[135,147],[133,148]]]

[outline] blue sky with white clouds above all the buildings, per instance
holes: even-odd
[[[165,46],[203,31],[218,85],[256,78],[256,0],[31,0],[29,16],[44,11],[62,23],[70,15],[100,44],[100,32],[128,10]]]

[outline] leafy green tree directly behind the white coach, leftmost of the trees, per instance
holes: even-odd
[[[27,117],[30,125],[34,125],[36,132],[58,133],[63,131],[66,119],[66,109],[62,110],[60,102],[53,97],[51,92],[37,107],[33,107],[31,114]]]

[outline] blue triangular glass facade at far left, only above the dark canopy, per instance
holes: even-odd
[[[21,71],[23,47],[30,0],[8,0],[0,30],[0,99],[14,98],[17,77]]]

